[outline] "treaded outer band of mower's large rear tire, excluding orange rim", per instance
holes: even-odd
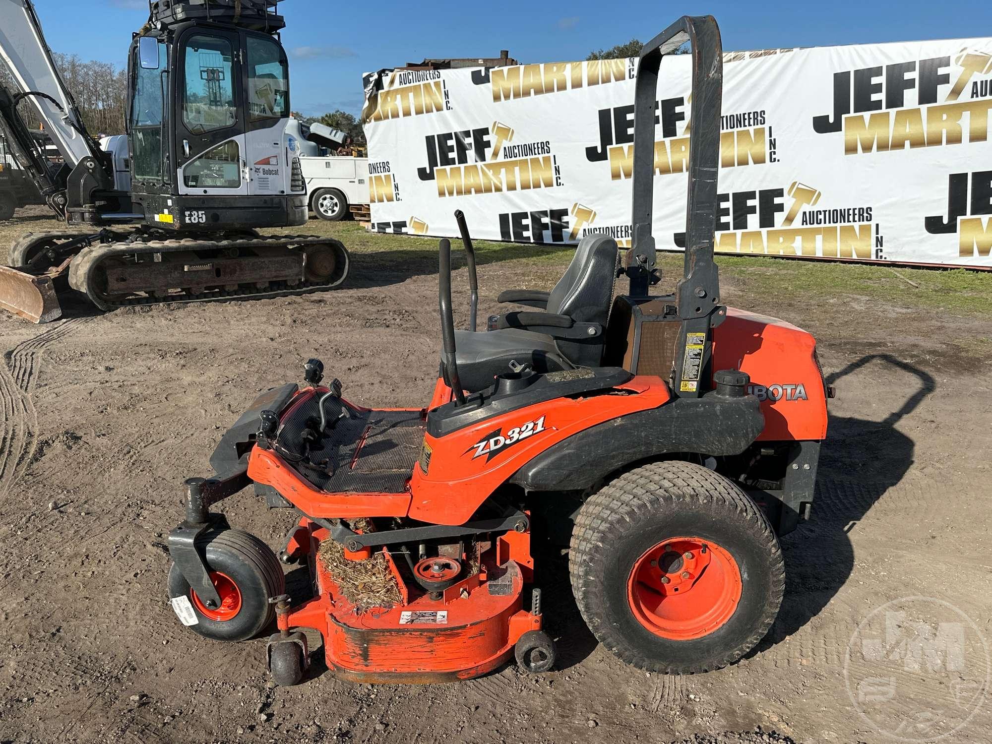
[[[602,577],[598,566],[611,551],[616,536],[642,515],[661,509],[686,507],[700,511],[731,512],[741,529],[753,534],[771,557],[773,582],[767,599],[769,612],[751,636],[727,649],[713,663],[682,667],[662,665],[632,650],[617,630],[590,610],[590,597],[602,604]],[[699,674],[726,667],[754,648],[775,621],[786,589],[785,563],[778,539],[760,508],[730,480],[708,468],[680,460],[653,462],[614,478],[582,505],[575,518],[568,555],[575,603],[586,625],[606,648],[640,669],[664,674]],[[598,596],[597,596],[598,595]]]

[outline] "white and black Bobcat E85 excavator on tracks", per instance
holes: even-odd
[[[101,149],[82,122],[31,0],[0,0],[9,143],[71,230],[29,234],[0,266],[0,307],[62,314],[57,287],[100,310],[331,289],[349,256],[331,238],[260,235],[308,219],[279,0],[151,0],[128,53],[127,136]],[[55,164],[18,112],[29,101]],[[90,229],[79,230],[80,226]]]

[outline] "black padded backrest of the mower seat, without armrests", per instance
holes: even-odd
[[[616,266],[616,241],[608,235],[586,235],[548,298],[548,312],[568,315],[576,322],[605,325]]]

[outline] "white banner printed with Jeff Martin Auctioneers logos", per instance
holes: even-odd
[[[684,230],[691,59],[658,90],[655,237]],[[390,70],[373,229],[630,241],[636,60]],[[992,39],[724,55],[717,251],[992,268]],[[369,81],[367,78],[366,82]]]

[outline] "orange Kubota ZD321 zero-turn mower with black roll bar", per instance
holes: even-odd
[[[686,41],[685,271],[674,295],[651,296],[658,73]],[[682,18],[641,55],[634,238],[620,272],[629,294],[613,297],[616,243],[590,235],[551,293],[501,296],[535,310],[455,330],[441,240],[441,375],[427,407],[350,403],[336,380],[321,384],[315,359],[306,387],[252,404],[211,456],[215,474],[186,481],[186,520],[169,536],[184,624],[239,641],[275,616],[268,666],[284,684],[309,663],[300,628],[320,633],[327,667],[346,679],[467,679],[515,652],[543,672],[555,646],[533,582],[532,521],[570,519],[575,601],[624,661],[704,672],[761,640],[785,585],[777,533],[806,518],[812,499],[826,390],[808,333],[720,303],[721,77],[708,16]],[[474,326],[474,303],[471,317]],[[300,514],[279,558],[208,511],[250,484]],[[312,593],[296,605],[280,559],[310,568]]]

